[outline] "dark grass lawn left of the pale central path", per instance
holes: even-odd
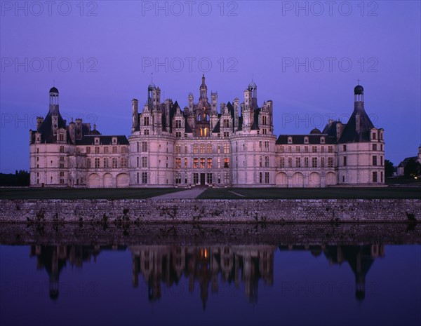
[[[4,188],[0,199],[142,199],[180,191],[174,188],[51,189]]]

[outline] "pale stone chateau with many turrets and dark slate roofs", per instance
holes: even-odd
[[[141,111],[140,111],[141,110]],[[73,120],[73,119],[72,119]],[[131,135],[102,135],[80,118],[67,124],[58,89],[49,111],[29,130],[31,186],[379,186],[384,183],[384,130],[364,109],[364,90],[354,88],[347,123],[328,121],[308,135],[280,135],[273,127],[273,102],[258,104],[252,81],[240,102],[220,103],[205,76],[199,100],[188,106],[161,102],[151,83],[147,102],[132,100]]]

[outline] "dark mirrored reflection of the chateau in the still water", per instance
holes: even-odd
[[[385,255],[384,246],[369,245],[227,245],[227,246],[178,246],[178,245],[135,245],[135,246],[82,246],[32,245],[30,256],[36,256],[36,268],[45,269],[49,276],[51,299],[58,299],[59,276],[62,269],[70,266],[82,267],[83,262],[96,261],[105,250],[130,250],[133,261],[133,287],[138,287],[143,278],[147,286],[149,301],[156,301],[163,295],[163,287],[180,286],[180,280],[189,280],[189,292],[199,287],[203,308],[206,307],[209,290],[218,292],[220,284],[234,284],[239,289],[243,283],[250,302],[258,299],[258,284],[274,283],[274,253],[286,250],[309,251],[315,257],[324,254],[329,264],[347,262],[355,276],[356,299],[365,297],[366,275],[377,257]]]

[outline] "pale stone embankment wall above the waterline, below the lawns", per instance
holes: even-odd
[[[418,199],[0,200],[0,222],[421,222]]]

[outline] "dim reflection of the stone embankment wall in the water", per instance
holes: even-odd
[[[420,223],[0,223],[2,245],[420,244]]]

